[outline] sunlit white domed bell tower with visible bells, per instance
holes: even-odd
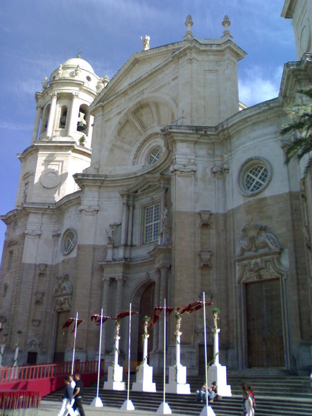
[[[93,116],[88,107],[107,85],[91,65],[71,58],[44,78],[35,94],[37,114],[31,146],[18,157],[21,175],[16,207],[53,203],[78,190],[73,174],[90,164]]]

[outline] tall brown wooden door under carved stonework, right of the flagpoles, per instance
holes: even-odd
[[[284,367],[284,337],[279,279],[246,288],[248,366]]]

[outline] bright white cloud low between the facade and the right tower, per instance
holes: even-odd
[[[245,70],[239,78],[239,99],[246,105],[254,105],[276,98],[279,95],[281,73],[279,66],[268,77],[261,67],[251,67]]]

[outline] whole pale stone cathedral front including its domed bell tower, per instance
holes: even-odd
[[[286,109],[311,83],[311,3],[286,0],[297,61],[279,96],[246,108],[237,66],[245,52],[223,36],[198,39],[187,17],[180,42],[135,53],[111,81],[82,58],[60,64],[37,92],[31,146],[19,154],[15,208],[1,262],[3,364],[71,360],[62,325],[78,312],[76,357],[98,356],[94,313],[132,317],[142,357],[154,306],[202,299],[220,309],[220,362],[230,369],[311,367],[311,176],[284,164]],[[211,306],[208,343],[213,342]],[[167,324],[168,365],[175,317]],[[181,361],[204,368],[202,313],[185,315]],[[120,363],[128,360],[121,322]],[[103,326],[105,366],[114,324]],[[211,348],[209,347],[209,350]],[[163,323],[150,331],[149,363],[162,371]],[[211,353],[210,353],[211,354]]]

